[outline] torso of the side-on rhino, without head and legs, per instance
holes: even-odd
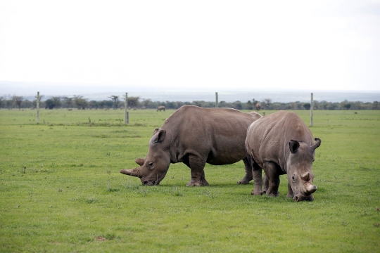
[[[246,129],[260,115],[231,108],[199,108],[184,105],[161,129],[170,136],[172,162],[198,155],[210,164],[231,164],[245,157]]]

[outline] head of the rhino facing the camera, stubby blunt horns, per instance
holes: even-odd
[[[315,149],[321,145],[321,140],[315,138],[315,143],[309,146],[307,143],[289,141],[289,159],[287,162],[287,174],[289,182],[289,197],[298,202],[302,200],[314,200],[317,186],[312,185],[312,162],[314,162]],[[292,194],[293,193],[293,194]]]

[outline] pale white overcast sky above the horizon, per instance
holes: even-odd
[[[380,91],[380,1],[0,0],[1,81]]]

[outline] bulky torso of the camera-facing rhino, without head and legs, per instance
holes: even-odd
[[[310,129],[296,113],[279,111],[249,126],[246,146],[261,167],[264,162],[276,162],[286,171],[291,140],[313,143]]]

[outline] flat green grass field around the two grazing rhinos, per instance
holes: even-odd
[[[380,252],[380,111],[314,112],[314,202],[251,195],[243,162],[120,174],[172,112],[0,110],[0,252]]]

